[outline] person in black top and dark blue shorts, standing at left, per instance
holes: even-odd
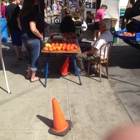
[[[12,44],[14,46],[14,50],[16,53],[16,57],[17,57],[16,61],[22,60],[19,52],[19,47],[22,45],[21,31],[18,27],[18,22],[17,22],[17,18],[20,12],[20,8],[18,6],[19,4],[20,4],[20,0],[12,0],[12,3],[9,4],[6,8],[7,25],[10,31]]]

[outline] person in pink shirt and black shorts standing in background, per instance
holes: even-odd
[[[102,19],[104,19],[104,12],[106,11],[107,6],[106,5],[102,5],[100,9],[97,10],[96,14],[95,14],[95,18],[94,18],[94,41],[96,41],[96,39],[98,39],[98,37],[100,36],[100,31],[99,31],[99,24],[98,22],[100,22]]]

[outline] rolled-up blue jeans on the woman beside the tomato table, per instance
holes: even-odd
[[[24,46],[29,53],[28,66],[32,71],[37,71],[37,69],[43,69],[43,61],[40,57],[41,42],[36,38],[21,38]]]

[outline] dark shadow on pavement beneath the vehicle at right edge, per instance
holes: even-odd
[[[131,46],[113,46],[109,66],[119,66],[125,69],[140,68],[140,51]]]

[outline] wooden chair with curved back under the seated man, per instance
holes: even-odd
[[[110,45],[110,47],[107,51],[107,55],[105,56],[105,54],[106,54],[105,52],[107,50],[108,45]],[[102,64],[106,64],[106,74],[107,74],[107,78],[108,78],[108,62],[109,62],[110,51],[111,51],[112,46],[113,46],[113,42],[107,42],[107,43],[103,44],[100,48],[99,60],[97,60],[97,61],[89,60],[88,61],[88,75],[90,72],[90,65],[91,64],[97,65],[97,70],[99,72],[100,82],[101,82],[101,77],[102,77]],[[104,55],[102,55],[102,56],[101,56],[101,51],[104,51]]]

